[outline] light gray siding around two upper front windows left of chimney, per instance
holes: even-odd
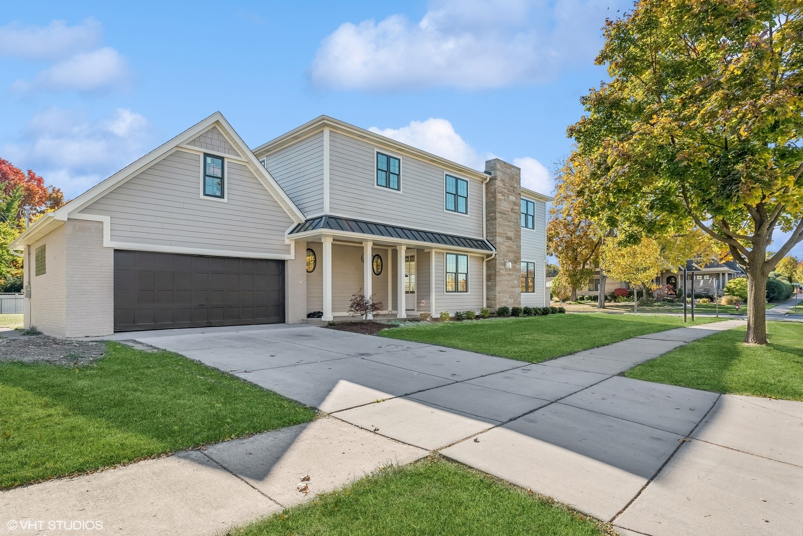
[[[427,231],[483,238],[483,182],[468,181],[468,215],[445,207],[445,170],[402,155],[402,191],[377,188],[374,145],[332,131],[329,209],[332,214]],[[393,151],[379,149],[396,155]],[[397,155],[396,155],[397,156]]]

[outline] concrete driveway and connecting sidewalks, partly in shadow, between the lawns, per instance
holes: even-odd
[[[803,403],[617,375],[742,323],[672,329],[539,365],[309,326],[121,334],[329,415],[12,489],[0,504],[13,518],[104,520],[116,534],[215,534],[381,464],[440,452],[622,534],[800,534]]]

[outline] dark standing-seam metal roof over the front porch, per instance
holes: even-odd
[[[290,231],[291,235],[298,235],[308,231],[353,232],[361,235],[384,236],[385,238],[410,240],[413,242],[436,243],[452,248],[475,249],[482,252],[493,252],[491,243],[483,239],[466,238],[464,236],[446,235],[431,231],[419,231],[407,227],[385,225],[383,223],[365,222],[359,219],[339,218],[336,216],[318,216],[299,223]]]

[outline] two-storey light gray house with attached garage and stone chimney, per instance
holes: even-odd
[[[64,337],[545,305],[546,203],[495,159],[471,170],[318,117],[249,149],[220,113],[10,248],[25,325]]]

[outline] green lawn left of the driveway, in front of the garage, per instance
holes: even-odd
[[[0,489],[307,422],[314,411],[180,355],[0,363]]]

